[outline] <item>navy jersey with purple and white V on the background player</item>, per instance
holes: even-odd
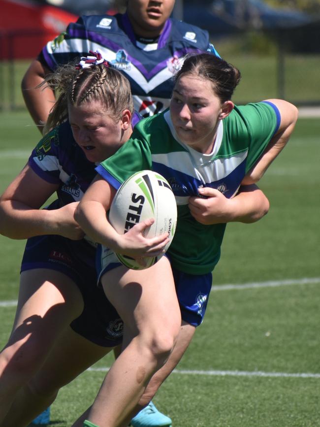
[[[149,46],[149,47],[148,47]],[[99,50],[128,78],[135,110],[143,117],[166,109],[173,73],[187,53],[209,51],[209,34],[185,22],[168,19],[157,43],[137,42],[127,14],[82,16],[42,49],[40,61],[54,70],[58,65]],[[152,49],[152,50],[150,50]]]

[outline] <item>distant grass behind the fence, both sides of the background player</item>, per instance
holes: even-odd
[[[241,84],[234,101],[246,103],[266,98],[284,98],[293,103],[320,103],[320,55],[286,54],[284,57],[284,87],[279,90],[278,58],[273,55],[234,53],[222,41],[214,42],[219,53],[241,71]],[[240,49],[241,51],[241,49]],[[0,106],[24,107],[19,88],[30,61],[0,62]]]

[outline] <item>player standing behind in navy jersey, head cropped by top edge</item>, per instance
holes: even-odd
[[[169,106],[172,76],[187,53],[211,51],[209,34],[170,18],[175,0],[128,0],[124,14],[82,16],[48,42],[27,70],[22,90],[35,124],[41,129],[55,101],[50,89],[36,86],[59,64],[98,49],[128,78],[134,108],[147,117]]]

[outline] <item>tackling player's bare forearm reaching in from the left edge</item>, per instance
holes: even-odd
[[[27,239],[59,234],[58,210],[32,209],[14,200],[0,203],[0,234],[11,239]]]

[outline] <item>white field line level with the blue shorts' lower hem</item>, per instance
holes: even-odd
[[[242,285],[237,284],[226,284],[226,285],[216,285],[212,286],[212,291],[229,291],[229,290],[242,290],[242,289],[255,289],[255,288],[276,288],[279,286],[288,286],[288,285],[307,285],[312,283],[320,283],[320,277],[310,277],[302,279],[288,279],[288,280],[270,280],[268,282],[253,282],[253,283],[243,283]],[[11,301],[0,301],[0,307],[15,307],[17,305],[17,300]]]

